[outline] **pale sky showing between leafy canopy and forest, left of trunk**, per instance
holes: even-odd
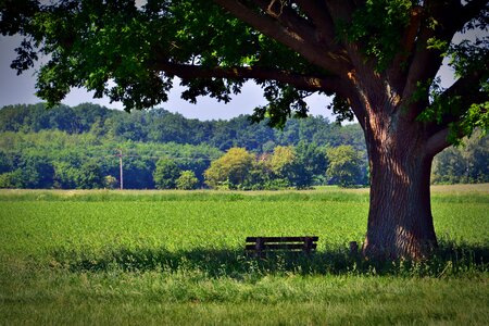
[[[0,36],[0,108],[10,104],[34,104],[42,100],[35,96],[35,70],[29,70],[16,75],[16,72],[10,68],[10,64],[15,59],[14,49],[18,46],[18,37]],[[241,93],[235,96],[229,103],[218,102],[210,97],[198,98],[197,104],[191,104],[180,99],[183,88],[174,83],[175,87],[170,93],[167,102],[159,104],[156,108],[163,108],[171,112],[178,112],[188,118],[199,120],[229,120],[240,114],[251,114],[253,109],[266,104],[263,98],[262,89],[252,82],[244,84]],[[63,103],[75,106],[79,103],[91,102],[104,105],[110,109],[123,110],[121,102],[110,103],[109,98],[93,99],[93,93],[85,89],[72,89]],[[312,96],[308,103],[312,115],[323,115],[334,117],[330,111],[326,109],[330,100],[325,96]]]

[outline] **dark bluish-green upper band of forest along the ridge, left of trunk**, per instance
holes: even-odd
[[[74,108],[59,105],[50,110],[42,103],[18,104],[0,110],[0,133],[48,129],[70,135],[90,133],[100,138],[122,141],[205,143],[221,151],[241,147],[254,153],[271,152],[275,146],[297,146],[300,141],[330,147],[351,145],[356,150],[365,151],[363,131],[359,125],[341,127],[323,116],[292,118],[283,129],[274,129],[267,121],[251,124],[247,115],[229,121],[199,121],[163,109],[127,114],[91,103]]]

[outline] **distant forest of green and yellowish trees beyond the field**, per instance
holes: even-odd
[[[489,181],[489,137],[440,153],[434,183]],[[0,109],[0,188],[281,189],[368,183],[363,131],[323,116],[284,129],[84,103]]]

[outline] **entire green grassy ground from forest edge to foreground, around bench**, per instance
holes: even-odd
[[[489,185],[432,189],[426,262],[350,254],[368,191],[0,191],[0,325],[489,324]],[[262,259],[247,236],[319,237]]]

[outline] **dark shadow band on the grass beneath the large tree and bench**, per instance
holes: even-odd
[[[441,242],[434,255],[423,262],[368,261],[342,248],[310,255],[301,252],[271,253],[264,258],[255,258],[238,249],[170,251],[165,248],[108,247],[97,252],[57,249],[51,252],[51,266],[71,272],[199,272],[206,277],[237,279],[250,275],[287,274],[444,277],[489,272],[489,243]]]

